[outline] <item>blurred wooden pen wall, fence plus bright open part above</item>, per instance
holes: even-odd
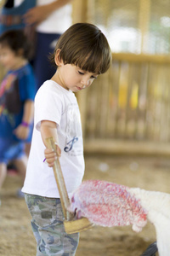
[[[73,1],[73,22],[99,26],[110,70],[79,92],[85,151],[169,154],[170,1]]]

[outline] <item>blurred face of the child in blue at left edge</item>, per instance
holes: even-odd
[[[20,56],[15,55],[14,51],[7,46],[0,44],[0,61],[3,64],[3,67],[8,70],[14,70],[18,68]]]

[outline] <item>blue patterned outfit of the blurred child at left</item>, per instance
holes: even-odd
[[[0,84],[0,163],[20,158],[24,154],[26,142],[14,135],[20,125],[26,100],[34,100],[35,78],[30,64],[15,71],[9,71]]]

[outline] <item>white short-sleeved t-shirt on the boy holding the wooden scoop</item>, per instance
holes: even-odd
[[[53,168],[44,160],[40,125],[42,120],[57,124],[59,158],[68,194],[82,183],[84,158],[82,125],[77,98],[71,90],[65,90],[52,80],[46,81],[35,98],[34,131],[28,160],[26,179],[22,191],[31,195],[59,198]]]

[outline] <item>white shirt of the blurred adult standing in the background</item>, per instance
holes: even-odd
[[[37,0],[37,6],[55,2],[56,0]],[[37,32],[43,33],[63,33],[71,26],[71,3],[54,10],[46,20],[37,26]]]

